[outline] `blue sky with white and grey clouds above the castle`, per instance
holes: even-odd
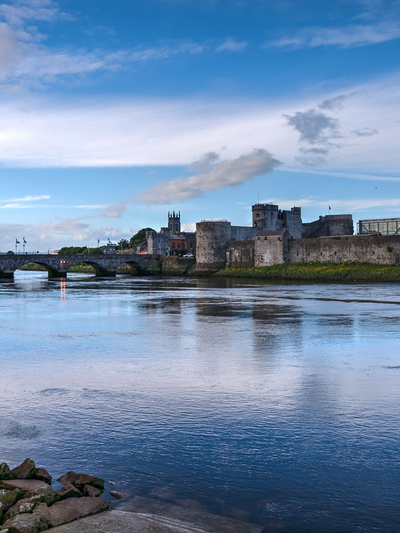
[[[399,43],[398,0],[1,3],[0,251],[400,216]]]

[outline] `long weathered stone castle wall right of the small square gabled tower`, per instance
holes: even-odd
[[[287,262],[364,261],[373,264],[400,264],[400,236],[318,237],[291,239]]]

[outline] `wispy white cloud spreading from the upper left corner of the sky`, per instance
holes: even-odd
[[[23,0],[14,5],[0,4],[0,90],[37,88],[58,82],[82,82],[101,71],[133,68],[137,63],[162,61],[178,55],[212,52],[238,52],[246,43],[227,38],[222,43],[196,43],[175,39],[155,45],[134,46],[130,50],[52,47],[34,23],[72,19],[51,0]]]

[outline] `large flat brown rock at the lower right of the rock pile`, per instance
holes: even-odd
[[[49,527],[61,526],[83,516],[106,511],[108,503],[102,498],[68,498],[47,509]]]

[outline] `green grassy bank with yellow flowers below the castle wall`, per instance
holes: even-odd
[[[215,276],[309,281],[400,281],[400,266],[310,262],[222,269]]]

